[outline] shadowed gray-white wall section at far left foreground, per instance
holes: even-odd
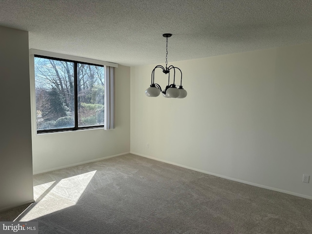
[[[28,32],[0,26],[0,210],[33,202]]]

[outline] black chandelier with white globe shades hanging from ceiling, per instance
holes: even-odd
[[[145,90],[145,95],[147,97],[158,97],[160,92],[161,92],[163,97],[165,97],[165,98],[185,98],[187,96],[187,92],[182,87],[182,71],[180,70],[180,68],[175,67],[173,65],[170,65],[169,67],[167,67],[167,65],[168,65],[168,61],[167,61],[167,59],[168,59],[168,38],[170,38],[172,36],[172,34],[165,33],[162,36],[167,39],[167,45],[166,45],[166,68],[164,68],[161,65],[157,65],[153,69],[151,85],[150,85],[149,88],[147,88]],[[168,74],[168,85],[166,86],[165,90],[162,90],[160,85],[154,82],[156,68],[161,68],[162,72],[164,74]],[[172,84],[170,84],[170,71],[173,71],[173,73],[174,73],[173,83]],[[180,82],[179,88],[176,88],[176,84],[175,84],[175,81],[176,81],[176,71],[179,71],[180,74],[181,74],[181,82]]]

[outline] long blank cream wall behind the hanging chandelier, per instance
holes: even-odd
[[[131,67],[131,152],[312,198],[302,183],[312,176],[311,62],[312,44],[169,62],[184,99],[146,97],[156,64]]]

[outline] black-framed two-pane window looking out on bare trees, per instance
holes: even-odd
[[[103,65],[35,55],[37,133],[104,127]]]

